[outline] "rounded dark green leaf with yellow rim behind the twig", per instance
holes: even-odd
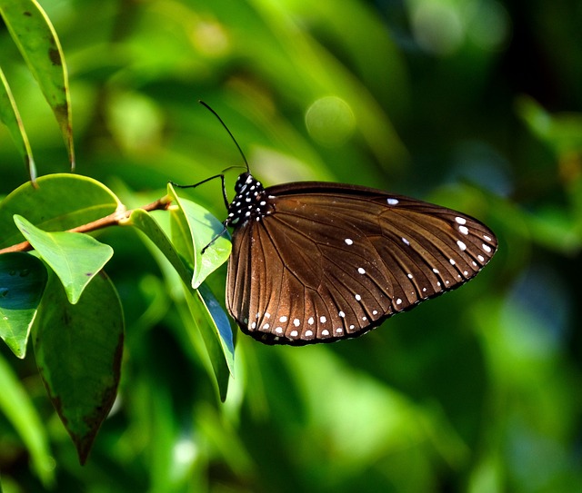
[[[19,214],[44,231],[65,231],[115,212],[121,203],[105,185],[71,173],[41,176],[35,188],[19,186],[0,202],[0,247],[23,242],[13,216]]]

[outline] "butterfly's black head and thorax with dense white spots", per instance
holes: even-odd
[[[238,228],[248,221],[261,221],[274,211],[265,187],[251,173],[242,173],[235,184],[236,196],[228,206],[226,226]]]

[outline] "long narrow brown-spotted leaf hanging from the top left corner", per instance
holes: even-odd
[[[55,28],[35,0],[0,0],[0,14],[55,113],[75,169],[68,75]]]

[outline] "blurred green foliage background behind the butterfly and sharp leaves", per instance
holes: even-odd
[[[69,70],[77,173],[128,206],[241,163],[203,99],[267,185],[407,193],[476,216],[500,242],[476,281],[358,340],[271,348],[237,334],[221,404],[179,286],[136,234],[102,232],[125,360],[85,467],[32,351],[0,349],[45,421],[55,490],[582,490],[579,2],[41,4]],[[65,172],[59,127],[5,30],[0,66],[38,174]],[[27,179],[4,128],[0,169],[3,194]],[[217,182],[189,196],[224,217]],[[5,493],[45,488],[4,416],[0,473]]]

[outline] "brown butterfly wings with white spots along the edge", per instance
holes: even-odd
[[[497,250],[487,226],[373,189],[296,182],[266,189],[273,212],[233,232],[227,308],[266,344],[356,337],[457,288]]]

